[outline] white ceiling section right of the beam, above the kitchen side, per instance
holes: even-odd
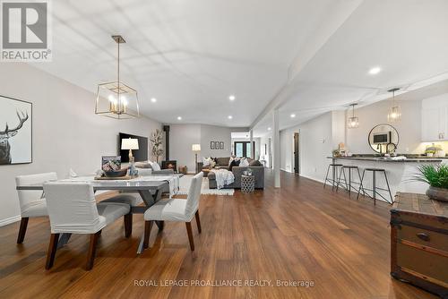
[[[282,90],[288,96],[276,105],[280,129],[353,102],[366,105],[389,98],[392,87],[403,93],[445,80],[446,12],[448,1],[443,0],[364,1]],[[382,72],[368,74],[374,66]],[[422,90],[411,97],[430,95]],[[269,126],[271,115],[261,115],[254,135],[267,133]]]

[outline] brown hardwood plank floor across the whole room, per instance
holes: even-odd
[[[73,235],[45,270],[46,218],[30,219],[22,244],[20,223],[0,227],[0,298],[435,298],[389,276],[389,205],[285,173],[274,189],[266,176],[264,192],[202,196],[194,252],[185,224],[168,222],[160,233],[152,228],[151,249],[137,256],[144,221],[134,215],[129,239],[121,220],[103,230],[92,270],[84,269],[88,235]],[[184,279],[273,286],[168,286]],[[278,279],[314,286],[276,286]]]

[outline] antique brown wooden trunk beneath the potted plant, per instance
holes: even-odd
[[[397,192],[391,209],[391,275],[448,298],[448,203]]]

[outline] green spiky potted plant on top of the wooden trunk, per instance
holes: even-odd
[[[417,180],[429,184],[426,195],[435,201],[448,201],[448,165],[422,165]]]

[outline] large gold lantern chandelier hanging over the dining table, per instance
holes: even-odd
[[[117,80],[98,84],[95,114],[116,119],[140,116],[137,90],[120,81],[120,44],[125,38],[113,35],[117,44]]]

